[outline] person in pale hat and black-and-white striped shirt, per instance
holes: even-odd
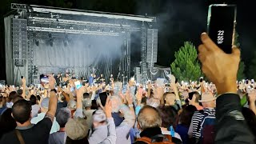
[[[190,123],[190,129],[188,135],[190,138],[199,139],[201,137],[201,129],[198,129],[198,126],[202,124],[202,118],[204,115],[212,114],[215,116],[215,102],[216,98],[210,92],[202,93],[202,97],[199,102],[202,103],[203,110],[195,111]]]

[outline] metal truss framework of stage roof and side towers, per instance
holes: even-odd
[[[29,83],[34,83],[34,79],[38,78],[38,67],[34,66],[33,58],[34,42],[38,41],[38,39],[49,38],[49,33],[56,38],[65,38],[66,34],[106,35],[112,37],[124,36],[125,50],[122,52],[121,71],[130,78],[130,34],[133,32],[141,32],[141,74],[142,81],[146,82],[147,70],[149,69],[146,62],[147,30],[154,29],[156,25],[155,17],[111,14],[88,10],[70,10],[17,3],[12,3],[11,9],[17,10],[13,19],[27,20],[26,58],[19,57],[13,59],[15,62],[23,62],[20,65],[14,64],[14,67],[25,67],[24,72],[21,72],[22,74],[20,75],[26,76]],[[20,52],[20,54],[22,53]],[[7,78],[7,82],[17,84],[17,82],[11,78]]]

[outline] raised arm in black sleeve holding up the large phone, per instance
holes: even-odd
[[[202,72],[214,82],[220,96],[217,98],[215,144],[254,143],[242,115],[242,106],[237,93],[237,73],[240,50],[234,47],[232,54],[224,53],[207,34],[202,34],[198,58],[202,62]]]

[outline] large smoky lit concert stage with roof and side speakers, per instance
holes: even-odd
[[[135,74],[146,82],[157,62],[155,17],[15,3],[11,9],[5,18],[7,84],[20,85],[21,76],[39,83],[40,74],[66,72],[78,78]],[[134,51],[138,62],[132,62]]]

